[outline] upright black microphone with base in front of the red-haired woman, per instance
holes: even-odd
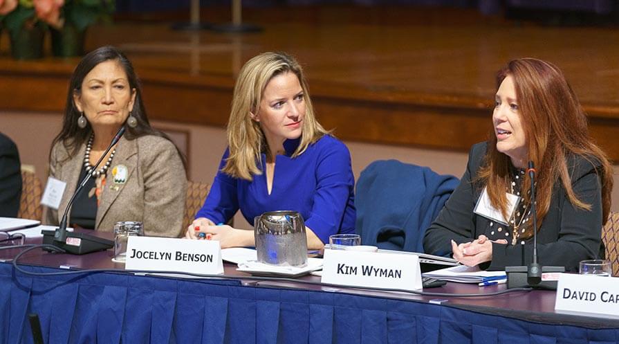
[[[507,287],[508,289],[533,287],[556,290],[557,281],[542,281],[542,273],[565,272],[565,266],[542,266],[537,262],[537,210],[535,209],[535,174],[537,171],[533,166],[533,161],[528,162],[528,169],[526,172],[531,180],[530,200],[531,219],[533,220],[533,260],[531,260],[528,266],[506,266]],[[526,215],[523,214],[523,216]]]

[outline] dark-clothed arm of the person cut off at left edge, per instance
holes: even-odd
[[[21,198],[21,163],[17,146],[0,134],[0,216],[17,217]]]

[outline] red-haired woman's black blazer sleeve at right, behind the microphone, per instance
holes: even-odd
[[[597,164],[576,157],[571,159],[571,183],[576,197],[591,205],[591,210],[574,206],[562,186],[555,186],[550,209],[537,233],[537,257],[546,266],[565,266],[567,271],[578,271],[581,260],[597,259],[602,242],[602,188]],[[533,244],[492,244],[491,270],[505,266],[529,264]]]

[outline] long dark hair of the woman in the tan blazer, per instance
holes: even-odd
[[[140,136],[145,135],[155,135],[166,138],[170,142],[170,138],[156,129],[151,127],[148,116],[146,115],[146,109],[144,107],[144,103],[142,102],[142,85],[140,84],[140,80],[138,79],[138,75],[136,75],[136,71],[133,70],[133,65],[131,61],[127,59],[127,56],[122,53],[122,51],[118,50],[118,48],[114,46],[102,46],[97,48],[94,51],[86,54],[84,58],[80,61],[79,64],[75,67],[73,71],[73,75],[71,75],[71,80],[69,80],[68,84],[68,92],[66,95],[66,107],[64,109],[64,120],[62,122],[62,129],[59,134],[54,138],[52,143],[52,147],[57,143],[62,143],[70,157],[75,156],[77,150],[89,139],[92,133],[91,124],[86,124],[84,129],[77,126],[77,118],[80,118],[81,113],[75,107],[75,101],[73,100],[73,94],[80,94],[82,92],[82,82],[84,82],[84,78],[86,75],[92,71],[95,66],[98,66],[102,62],[106,61],[116,61],[122,69],[124,73],[127,74],[127,80],[129,81],[129,89],[136,90],[136,101],[133,104],[133,110],[131,111],[131,116],[135,117],[138,121],[138,125],[132,128],[124,123],[125,134],[124,136],[133,140]],[[176,147],[176,145],[174,145]],[[185,169],[187,168],[187,160],[185,156],[178,150],[176,147],[176,151],[178,155],[181,156],[181,160],[183,161],[183,165],[185,165]],[[51,152],[50,152],[51,154]],[[51,156],[50,156],[51,158]]]

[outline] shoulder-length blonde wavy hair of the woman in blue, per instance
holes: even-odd
[[[286,53],[261,53],[246,62],[234,85],[227,132],[230,155],[221,169],[225,174],[248,181],[252,180],[253,175],[262,174],[260,154],[268,154],[269,147],[259,123],[252,120],[250,114],[256,114],[259,110],[268,82],[284,73],[297,75],[303,89],[306,111],[301,142],[293,158],[303,154],[309,145],[323,135],[329,134],[314,116],[307,82],[299,62]]]

